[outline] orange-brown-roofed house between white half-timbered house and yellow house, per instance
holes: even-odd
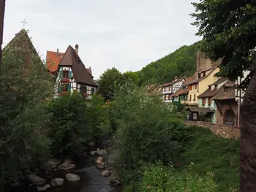
[[[187,97],[189,93],[188,84],[195,80],[195,76],[188,77],[183,83],[181,88],[178,89],[175,93],[173,93],[173,102],[180,102],[181,104],[187,104]]]

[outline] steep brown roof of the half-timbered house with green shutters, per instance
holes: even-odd
[[[88,72],[79,55],[75,52],[74,48],[69,45],[66,52],[61,59],[59,66],[70,66],[74,74],[75,80],[82,84],[92,85],[97,87],[94,82],[93,76]]]

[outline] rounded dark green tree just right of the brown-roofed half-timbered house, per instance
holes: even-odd
[[[97,82],[99,84],[97,93],[102,95],[105,101],[107,101],[108,99],[113,99],[114,91],[116,87],[124,83],[124,77],[118,69],[112,68],[103,72]]]

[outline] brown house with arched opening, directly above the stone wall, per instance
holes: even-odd
[[[235,82],[227,81],[221,91],[212,98],[217,106],[216,123],[238,126],[238,103],[236,101]]]

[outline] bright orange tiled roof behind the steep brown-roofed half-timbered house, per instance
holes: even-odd
[[[64,53],[57,53],[48,50],[46,53],[46,64],[49,72],[56,72]]]

